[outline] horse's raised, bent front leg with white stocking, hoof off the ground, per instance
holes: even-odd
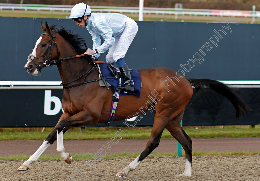
[[[64,119],[59,122],[56,126],[57,130],[57,151],[59,152],[60,156],[67,162],[71,164],[72,156],[65,152],[65,148],[63,145],[63,131],[69,126],[80,126],[85,124],[96,124],[93,123],[93,118],[90,116],[89,112],[81,111],[67,119]]]

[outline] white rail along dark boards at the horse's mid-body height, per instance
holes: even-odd
[[[260,88],[256,80],[220,81],[235,88]],[[0,81],[0,89],[63,89],[60,81]]]

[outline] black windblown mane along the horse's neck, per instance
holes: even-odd
[[[67,40],[67,42],[69,42],[69,44],[71,44],[71,46],[75,49],[75,51],[77,52],[77,54],[83,54],[85,52],[85,47],[82,48],[83,43],[85,43],[85,39],[82,38],[80,35],[78,34],[73,34],[72,29],[70,30],[65,30],[65,28],[63,26],[61,26],[61,29],[57,29],[56,28],[57,25],[51,25],[50,29],[55,31],[56,33],[58,33],[60,36],[62,36],[65,40]],[[90,61],[90,56],[86,55],[84,56],[89,62]]]

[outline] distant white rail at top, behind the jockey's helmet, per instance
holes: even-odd
[[[35,10],[35,11],[71,11],[73,6],[68,5],[42,5],[42,4],[7,4],[0,3],[1,10]],[[139,7],[115,7],[115,6],[91,6],[92,12],[116,12],[138,14]],[[203,15],[203,16],[230,16],[230,17],[258,17],[260,11],[239,10],[206,10],[206,9],[183,9],[183,8],[148,8],[144,7],[144,14],[162,15]]]

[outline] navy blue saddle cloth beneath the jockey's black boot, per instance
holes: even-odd
[[[100,71],[103,77],[107,77],[107,76],[113,76],[112,72],[108,69],[107,64],[98,64],[100,67]],[[134,82],[134,92],[133,93],[129,93],[129,92],[120,92],[120,95],[128,95],[128,94],[134,94],[136,95],[138,98],[140,97],[141,94],[141,78],[140,78],[140,74],[137,70],[130,70],[130,74],[132,76],[132,81]],[[116,87],[119,83],[118,78],[116,77],[111,77],[111,78],[106,78],[105,79],[107,82],[109,82],[111,84],[111,87],[113,89],[113,93],[115,93],[116,91]],[[124,86],[124,81],[121,78],[121,86]]]

